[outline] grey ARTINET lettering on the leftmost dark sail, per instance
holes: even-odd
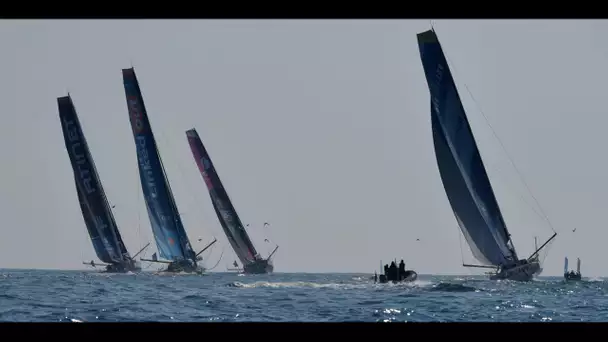
[[[73,120],[62,118],[62,121],[63,127],[65,127],[68,152],[74,162],[74,174],[80,180],[79,183],[82,184],[86,193],[91,194],[97,191],[97,189],[91,175],[89,162],[86,158],[85,142],[82,139],[82,134]]]

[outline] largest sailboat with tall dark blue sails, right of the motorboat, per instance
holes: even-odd
[[[477,148],[456,84],[434,30],[417,34],[431,97],[431,125],[441,180],[454,216],[473,253],[495,269],[490,279],[532,280],[541,270],[535,257],[554,233],[527,259],[519,259]]]

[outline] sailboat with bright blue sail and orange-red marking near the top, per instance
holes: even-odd
[[[158,254],[165,259],[159,260],[155,253],[152,259],[140,260],[167,264],[167,272],[201,274],[205,268],[198,264],[202,261],[200,254],[217,239],[198,253],[192,249],[158,152],[134,68],[123,69],[122,77],[148,217]]]

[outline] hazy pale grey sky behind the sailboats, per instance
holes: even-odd
[[[433,25],[518,254],[531,254],[534,237],[544,242],[553,227],[543,275],[560,275],[564,256],[580,257],[585,276],[608,275],[608,23]],[[275,271],[370,273],[403,258],[422,274],[480,274],[462,266],[475,260],[433,151],[416,42],[429,28],[428,20],[1,21],[0,267],[82,269],[97,260],[58,117],[57,97],[68,91],[127,248],[153,241],[122,85],[121,69],[134,66],[190,240],[200,249],[218,239],[207,267],[225,271],[235,255],[192,158],[190,128],[260,253],[280,245]]]

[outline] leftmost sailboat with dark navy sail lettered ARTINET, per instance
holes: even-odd
[[[69,94],[58,97],[57,105],[65,147],[74,172],[76,194],[78,195],[82,217],[95,253],[99,260],[103,262],[96,263],[91,260],[91,262],[83,262],[83,264],[105,267],[106,272],[112,273],[141,271],[141,267],[135,261],[135,258],[149,244],[144,246],[135,256],[131,257],[129,255],[97,174],[97,168],[82,132],[72,98]]]

